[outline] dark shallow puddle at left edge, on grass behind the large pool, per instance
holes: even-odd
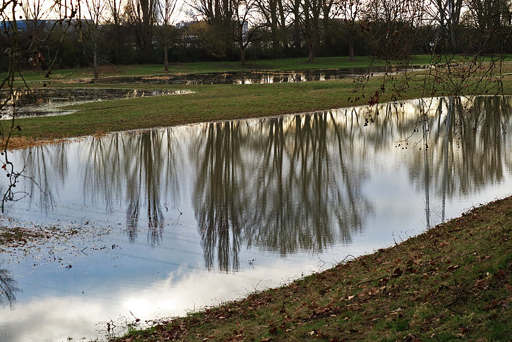
[[[154,90],[122,88],[33,88],[14,92],[16,118],[33,116],[67,115],[75,110],[61,110],[62,107],[115,99],[126,99],[160,95],[189,94],[190,90]],[[5,96],[6,91],[2,91]],[[12,101],[0,112],[1,119],[12,118]]]

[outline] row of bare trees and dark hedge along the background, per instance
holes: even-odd
[[[16,31],[20,62],[43,69],[512,50],[510,0],[10,0],[0,10],[2,50]],[[176,27],[185,13],[191,22]]]

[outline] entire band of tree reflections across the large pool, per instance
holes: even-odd
[[[84,203],[125,210],[131,242],[147,221],[147,241],[155,246],[162,208],[191,206],[206,267],[237,271],[243,246],[284,255],[349,243],[375,207],[365,182],[378,179],[389,158],[424,196],[426,224],[444,220],[447,200],[502,182],[504,168],[510,170],[504,134],[510,103],[510,97],[417,99],[115,133],[88,138],[73,153]],[[368,126],[365,117],[373,120]],[[72,178],[70,149],[23,152],[46,207]],[[439,217],[431,198],[442,200]]]

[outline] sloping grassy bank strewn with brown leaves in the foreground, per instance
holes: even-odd
[[[512,198],[399,245],[115,341],[512,338]]]

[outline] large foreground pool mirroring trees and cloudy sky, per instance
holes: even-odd
[[[121,333],[505,197],[511,104],[417,99],[16,151],[37,186],[18,185],[31,196],[7,205],[4,224],[78,232],[0,254],[0,340]]]

